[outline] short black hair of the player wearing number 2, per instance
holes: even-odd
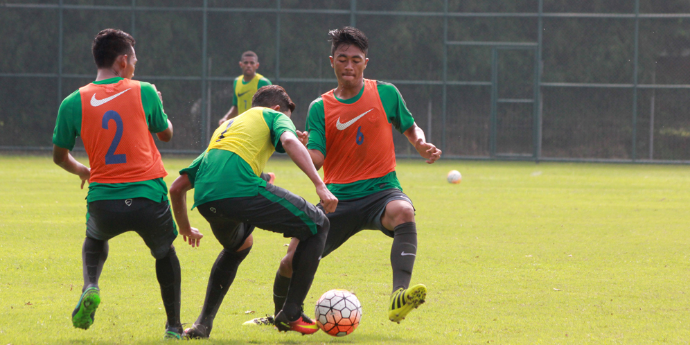
[[[132,53],[134,37],[123,30],[107,28],[101,30],[91,44],[94,61],[99,69],[112,67],[115,59],[123,54]]]

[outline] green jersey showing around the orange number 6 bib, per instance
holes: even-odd
[[[398,88],[393,84],[381,81],[376,82],[376,88],[378,89],[388,122],[400,133],[404,133],[409,127],[412,127],[414,125],[414,118],[412,118],[412,113],[407,109],[405,100],[400,95]],[[347,100],[336,98],[336,100],[343,104],[353,104],[362,97],[363,93],[364,87],[360,90],[360,94],[353,98]],[[326,114],[324,112],[324,100],[321,97],[309,105],[306,130],[309,132],[307,148],[319,150],[326,157],[326,154],[328,154],[326,148]],[[330,193],[333,193],[339,200],[364,197],[389,188],[403,190],[395,171],[389,172],[382,177],[363,179],[349,184],[328,184],[327,187]]]

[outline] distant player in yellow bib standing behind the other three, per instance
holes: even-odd
[[[256,94],[256,90],[266,85],[271,85],[270,80],[256,73],[258,67],[259,62],[256,53],[253,51],[245,51],[242,53],[242,58],[240,60],[242,76],[238,76],[233,82],[232,107],[230,107],[227,114],[218,121],[218,125],[250,109],[251,98]]]

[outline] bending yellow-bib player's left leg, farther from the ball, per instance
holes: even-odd
[[[211,335],[215,315],[235,279],[240,263],[251,250],[253,244],[251,231],[254,230],[254,227],[224,217],[224,215],[235,213],[232,207],[235,202],[231,199],[216,200],[202,204],[197,208],[211,224],[213,235],[218,239],[223,249],[211,267],[211,276],[206,286],[202,312],[194,325],[184,331],[188,337],[207,338]],[[241,202],[238,203],[241,204]]]

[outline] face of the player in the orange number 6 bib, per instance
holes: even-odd
[[[335,71],[338,84],[342,87],[355,87],[360,85],[364,78],[364,69],[369,59],[358,46],[354,44],[342,44],[333,56],[330,56],[330,67]]]

